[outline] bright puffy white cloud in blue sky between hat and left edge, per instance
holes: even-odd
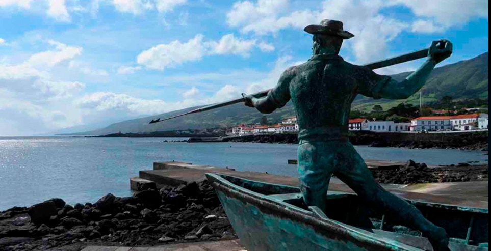
[[[175,40],[169,44],[160,44],[141,52],[137,63],[150,69],[164,70],[188,61],[200,60],[206,48],[202,44],[203,35],[196,35],[186,43]]]

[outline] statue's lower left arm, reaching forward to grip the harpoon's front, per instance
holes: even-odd
[[[276,87],[268,92],[264,98],[255,98],[250,95],[242,94],[245,105],[255,107],[263,114],[270,114],[277,108],[285,106],[290,101],[290,81],[293,78],[293,67],[287,69],[278,80]]]

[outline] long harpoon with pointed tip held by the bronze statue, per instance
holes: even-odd
[[[415,51],[415,52],[403,54],[403,55],[400,55],[400,56],[397,56],[397,57],[394,57],[394,58],[389,58],[389,59],[385,59],[385,60],[373,62],[373,63],[370,63],[370,64],[366,64],[364,66],[365,67],[368,67],[368,68],[370,68],[372,70],[375,70],[375,69],[379,69],[379,68],[383,68],[383,67],[387,67],[387,66],[391,66],[391,65],[397,65],[397,64],[401,64],[401,63],[405,63],[405,62],[417,60],[417,59],[426,58],[427,56],[428,56],[428,49],[422,49],[422,50],[418,50],[418,51]],[[256,97],[256,98],[261,98],[261,97],[267,96],[268,95],[268,92],[269,92],[269,90],[266,90],[266,91],[254,93],[251,96]],[[240,102],[244,102],[244,98],[238,98],[238,99],[234,99],[234,100],[230,100],[230,101],[226,101],[226,102],[221,102],[221,103],[206,105],[206,106],[203,106],[203,107],[200,107],[200,108],[197,108],[197,109],[188,111],[187,113],[184,113],[184,114],[179,114],[179,115],[172,116],[172,117],[165,118],[165,119],[160,119],[159,118],[157,120],[152,120],[152,121],[150,121],[149,124],[153,124],[153,123],[157,123],[157,122],[162,122],[162,121],[166,121],[166,120],[171,120],[171,119],[183,117],[183,116],[186,116],[186,115],[189,115],[189,114],[201,113],[202,111],[216,109],[216,108],[220,108],[220,107],[231,105],[231,104],[237,104],[237,103],[240,103]]]

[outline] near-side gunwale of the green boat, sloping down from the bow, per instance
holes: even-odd
[[[215,189],[225,193],[226,196],[251,203],[262,212],[267,210],[271,211],[266,212],[267,214],[273,214],[280,218],[289,216],[289,218],[293,219],[294,221],[303,222],[305,225],[313,226],[314,230],[323,236],[327,236],[325,232],[333,233],[334,235],[340,236],[347,241],[360,244],[359,246],[373,251],[379,251],[380,248],[393,251],[423,251],[423,249],[376,235],[364,229],[350,226],[333,219],[321,218],[311,211],[299,208],[283,201],[275,200],[271,197],[265,196],[264,194],[245,189],[222,177],[231,175],[207,173],[206,176],[209,178],[209,180],[211,179],[210,183],[212,186]],[[234,178],[242,179],[239,177]],[[278,210],[283,215],[278,214]]]

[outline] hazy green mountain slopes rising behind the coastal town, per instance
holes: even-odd
[[[437,100],[445,95],[454,99],[464,98],[488,98],[489,77],[489,53],[479,55],[476,58],[438,67],[431,73],[423,90],[424,101]],[[394,79],[402,80],[411,72],[393,75]],[[353,102],[353,109],[370,110],[375,104],[380,104],[384,109],[396,106],[401,102],[419,104],[420,94],[409,97],[406,100],[374,100],[359,95]],[[127,120],[109,125],[108,127],[81,132],[83,135],[105,135],[110,133],[143,133],[152,131],[204,129],[237,125],[240,123],[259,123],[263,116],[269,122],[276,123],[281,118],[293,116],[294,109],[289,102],[285,107],[274,111],[272,114],[263,115],[256,109],[246,107],[244,104],[235,104],[203,113],[192,114],[165,122],[148,124],[152,119],[166,118],[185,113],[197,107],[186,108],[140,119]]]

